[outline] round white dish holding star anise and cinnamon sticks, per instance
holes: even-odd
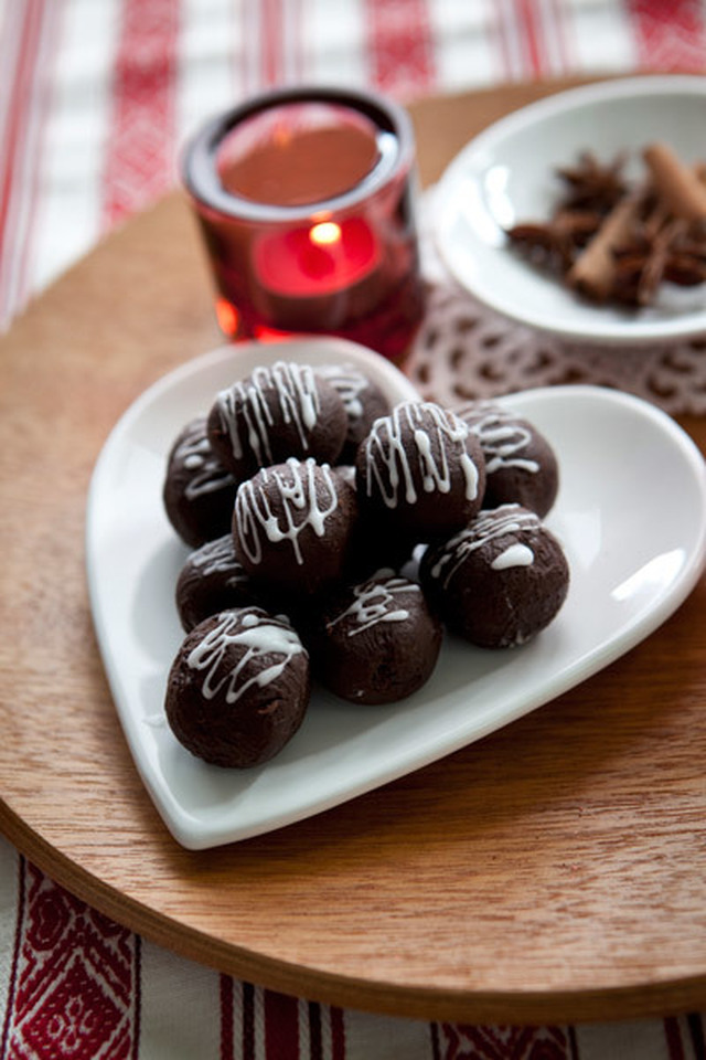
[[[663,140],[686,163],[706,160],[706,77],[601,82],[559,93],[490,126],[456,157],[434,194],[439,254],[456,279],[506,317],[565,339],[641,344],[706,330],[706,285],[664,285],[642,310],[596,307],[512,251],[505,231],[543,220],[560,193],[557,166],[591,149],[601,160],[629,151],[631,180],[641,152]]]

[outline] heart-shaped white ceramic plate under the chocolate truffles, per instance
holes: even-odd
[[[559,456],[547,519],[571,568],[567,602],[534,642],[485,651],[447,639],[436,672],[409,699],[361,708],[317,690],[302,728],[267,765],[208,766],[172,736],[162,709],[182,639],[173,592],[188,552],[162,510],[169,447],[216,391],[277,357],[339,358],[393,400],[410,383],[374,353],[338,340],[216,350],[147,391],[113,431],[87,511],[87,568],[100,649],[135,762],[174,837],[212,847],[335,806],[505,725],[585,680],[656,628],[704,561],[702,457],[663,413],[592,386],[505,399]]]

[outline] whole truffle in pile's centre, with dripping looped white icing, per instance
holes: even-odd
[[[235,554],[258,584],[318,593],[345,570],[356,512],[355,491],[341,475],[291,457],[238,487]]]

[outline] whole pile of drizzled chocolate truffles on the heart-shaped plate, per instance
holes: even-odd
[[[313,682],[371,709],[421,688],[447,628],[488,649],[544,629],[569,583],[543,519],[556,455],[501,405],[394,407],[355,365],[280,360],[217,394],[168,456],[191,552],[165,712],[204,761],[277,754]]]

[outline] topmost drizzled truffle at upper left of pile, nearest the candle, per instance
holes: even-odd
[[[290,456],[334,463],[347,416],[340,395],[312,368],[277,361],[221,391],[207,427],[214,453],[240,480]]]

